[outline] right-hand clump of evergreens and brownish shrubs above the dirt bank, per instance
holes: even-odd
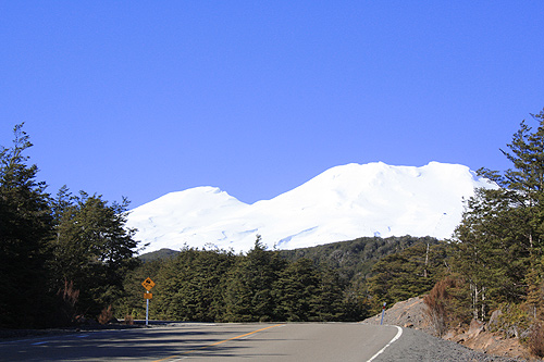
[[[502,153],[511,167],[480,168],[499,186],[478,189],[449,240],[447,274],[429,304],[437,329],[490,321],[507,336],[540,340],[544,355],[544,111],[532,114]],[[437,304],[441,307],[438,308]],[[498,313],[497,313],[498,312]],[[436,316],[436,315],[435,315]],[[540,334],[536,334],[535,330]]]

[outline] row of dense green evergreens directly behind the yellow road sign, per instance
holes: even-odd
[[[185,247],[171,259],[145,263],[127,278],[136,286],[125,313],[143,316],[143,288],[150,276],[151,316],[200,322],[355,321],[364,311],[345,298],[337,273],[309,259],[288,262],[257,237],[247,253]],[[140,280],[141,279],[141,280]]]

